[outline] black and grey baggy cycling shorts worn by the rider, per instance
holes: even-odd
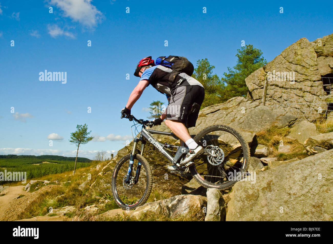
[[[171,90],[170,102],[166,107],[166,119],[177,120],[185,124],[192,104],[197,103],[201,106],[204,97],[204,89],[198,85],[173,88]],[[187,128],[195,126],[198,114],[199,110],[190,114],[187,121]]]

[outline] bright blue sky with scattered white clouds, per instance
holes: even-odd
[[[95,141],[79,156],[110,156],[132,137],[120,111],[142,58],[207,58],[223,77],[242,40],[269,62],[300,38],[332,34],[331,11],[313,1],[0,0],[0,154],[75,156],[68,139],[86,123]],[[40,81],[44,70],[66,72],[66,84]],[[166,102],[150,86],[132,114],[146,118],[153,100]]]

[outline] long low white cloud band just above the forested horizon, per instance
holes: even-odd
[[[78,157],[86,157],[89,159],[94,159],[96,153],[98,151],[80,151]],[[108,150],[107,157],[110,157],[111,153],[116,156],[116,150]],[[63,151],[63,150],[54,150],[54,149],[32,149],[32,148],[0,148],[0,154],[16,154],[16,155],[58,155],[58,156],[65,156],[65,157],[76,157],[76,150],[70,151]]]

